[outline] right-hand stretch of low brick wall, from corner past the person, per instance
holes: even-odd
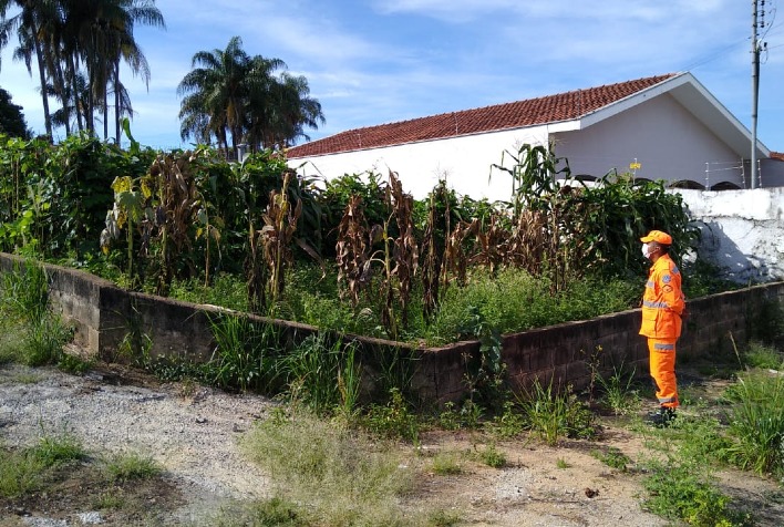
[[[689,316],[678,342],[679,360],[709,358],[732,352],[752,337],[763,302],[784,301],[784,282],[755,286],[689,301]],[[586,354],[601,347],[598,368],[602,374],[621,365],[648,375],[648,347],[639,335],[638,309],[594,320],[567,322],[504,337],[503,359],[514,389],[528,389],[534,380],[556,385],[588,386],[590,371]],[[732,334],[732,339],[730,338]],[[420,394],[443,403],[463,395],[464,354],[478,352],[478,343],[460,342],[446,348],[422,350],[414,378]]]

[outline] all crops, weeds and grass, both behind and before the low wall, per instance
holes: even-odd
[[[501,335],[633,306],[644,273],[639,235],[670,231],[675,255],[697,236],[680,197],[662,184],[622,175],[608,175],[590,188],[563,184],[555,176],[568,177],[568,165],[529,145],[502,170],[515,190],[509,203],[497,204],[457,196],[443,182],[417,202],[394,174],[388,182],[370,174],[367,183],[348,175],[321,190],[295,177],[272,152],[227,164],[207,147],[164,154],[133,143],[124,153],[78,137],[60,147],[17,140],[6,146],[0,149],[0,175],[8,176],[0,185],[1,249],[86,268],[132,289],[323,330],[293,338],[246,313],[219,311],[210,317],[214,354],[194,364],[153,354],[141,318],[132,318],[113,358],[162,379],[260,391],[293,403],[292,415],[269,420],[248,444],[279,485],[272,499],[241,513],[260,525],[322,525],[324,518],[333,525],[414,525],[410,517],[403,521],[399,508],[413,472],[401,468],[386,442],[417,446],[431,426],[496,440],[528,434],[548,445],[595,438],[600,427],[591,406],[555,379],[509,393]],[[93,162],[84,176],[84,165]],[[74,165],[75,174],[64,168]],[[94,194],[87,192],[93,187]],[[690,297],[723,286],[700,278],[709,269],[700,261],[683,269],[698,272],[685,280],[693,283]],[[23,331],[2,332],[0,363],[89,368],[63,354],[70,332],[48,302],[42,267],[24,264],[4,273],[1,308],[3,329]],[[781,351],[768,345],[781,339],[782,320],[780,304],[766,304],[754,328],[765,343],[739,354],[743,365],[781,369]],[[479,353],[465,358],[467,396],[429,416],[406,392],[409,360],[388,347],[383,356],[373,356],[375,378],[364,380],[376,389],[376,399],[363,401],[365,364],[347,333],[429,344],[477,340]],[[596,389],[597,402],[622,418],[639,413],[633,374],[622,365],[610,375],[594,370],[590,397]],[[781,379],[756,370],[740,374],[725,396],[726,427],[681,420],[662,431],[669,434],[660,436],[663,455],[646,465],[646,507],[693,525],[749,521],[713,486],[711,471],[731,463],[782,476]],[[382,446],[371,446],[369,437]],[[504,466],[503,452],[487,444],[475,458]],[[632,463],[620,451],[597,452],[620,471]],[[8,473],[22,474],[14,476],[14,488],[29,492],[35,479],[23,474],[40,466],[34,456],[13,458]],[[106,477],[115,484],[155,477],[148,461],[112,462]],[[461,472],[458,459],[447,454],[432,462],[436,474]],[[218,521],[229,525],[226,518]],[[435,515],[416,521],[456,519]]]

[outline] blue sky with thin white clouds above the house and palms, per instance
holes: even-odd
[[[179,138],[176,89],[193,54],[239,35],[251,55],[305,75],[327,123],[344,130],[691,71],[751,127],[747,0],[157,0],[167,30],[136,29],[149,89],[130,74],[143,145]],[[766,0],[759,138],[784,152],[784,12]],[[16,41],[12,42],[16,44]],[[0,87],[43,131],[37,83],[2,53]],[[33,71],[35,73],[35,71]],[[644,125],[644,123],[641,123]],[[63,132],[61,131],[60,134]]]

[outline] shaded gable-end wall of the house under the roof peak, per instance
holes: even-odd
[[[687,179],[705,187],[731,182],[745,188],[737,154],[669,94],[555,138],[556,155],[569,159],[575,175],[600,177],[613,168],[626,173],[637,159],[642,165],[637,177]]]

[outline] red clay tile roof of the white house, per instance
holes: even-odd
[[[341,132],[289,148],[289,158],[392,146],[420,141],[570,121],[674,76],[649,76],[606,86],[443,113]]]

